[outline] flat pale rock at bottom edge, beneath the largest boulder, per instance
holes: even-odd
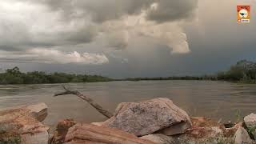
[[[158,144],[175,144],[175,142],[177,143],[176,138],[164,134],[149,134],[141,138],[150,140],[151,142],[155,142]]]

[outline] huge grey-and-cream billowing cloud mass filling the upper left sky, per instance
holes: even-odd
[[[197,0],[0,1],[0,50],[10,57],[12,51],[26,57],[31,50],[57,49],[56,57],[86,52],[95,58],[87,47],[80,52],[74,47],[98,43],[98,51],[104,53],[126,49],[132,38],[148,37],[170,47],[173,54],[188,53],[182,21],[194,17],[197,5]]]

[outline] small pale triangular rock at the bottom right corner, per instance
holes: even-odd
[[[239,127],[237,132],[234,134],[235,144],[250,144],[253,141],[250,139],[249,134],[243,127]]]

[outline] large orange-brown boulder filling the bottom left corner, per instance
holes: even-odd
[[[46,115],[44,103],[0,110],[0,143],[47,144],[49,127],[39,122]]]

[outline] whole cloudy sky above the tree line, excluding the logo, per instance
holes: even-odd
[[[250,24],[236,6],[250,5]],[[0,0],[0,68],[111,78],[214,74],[256,61],[255,0]]]

